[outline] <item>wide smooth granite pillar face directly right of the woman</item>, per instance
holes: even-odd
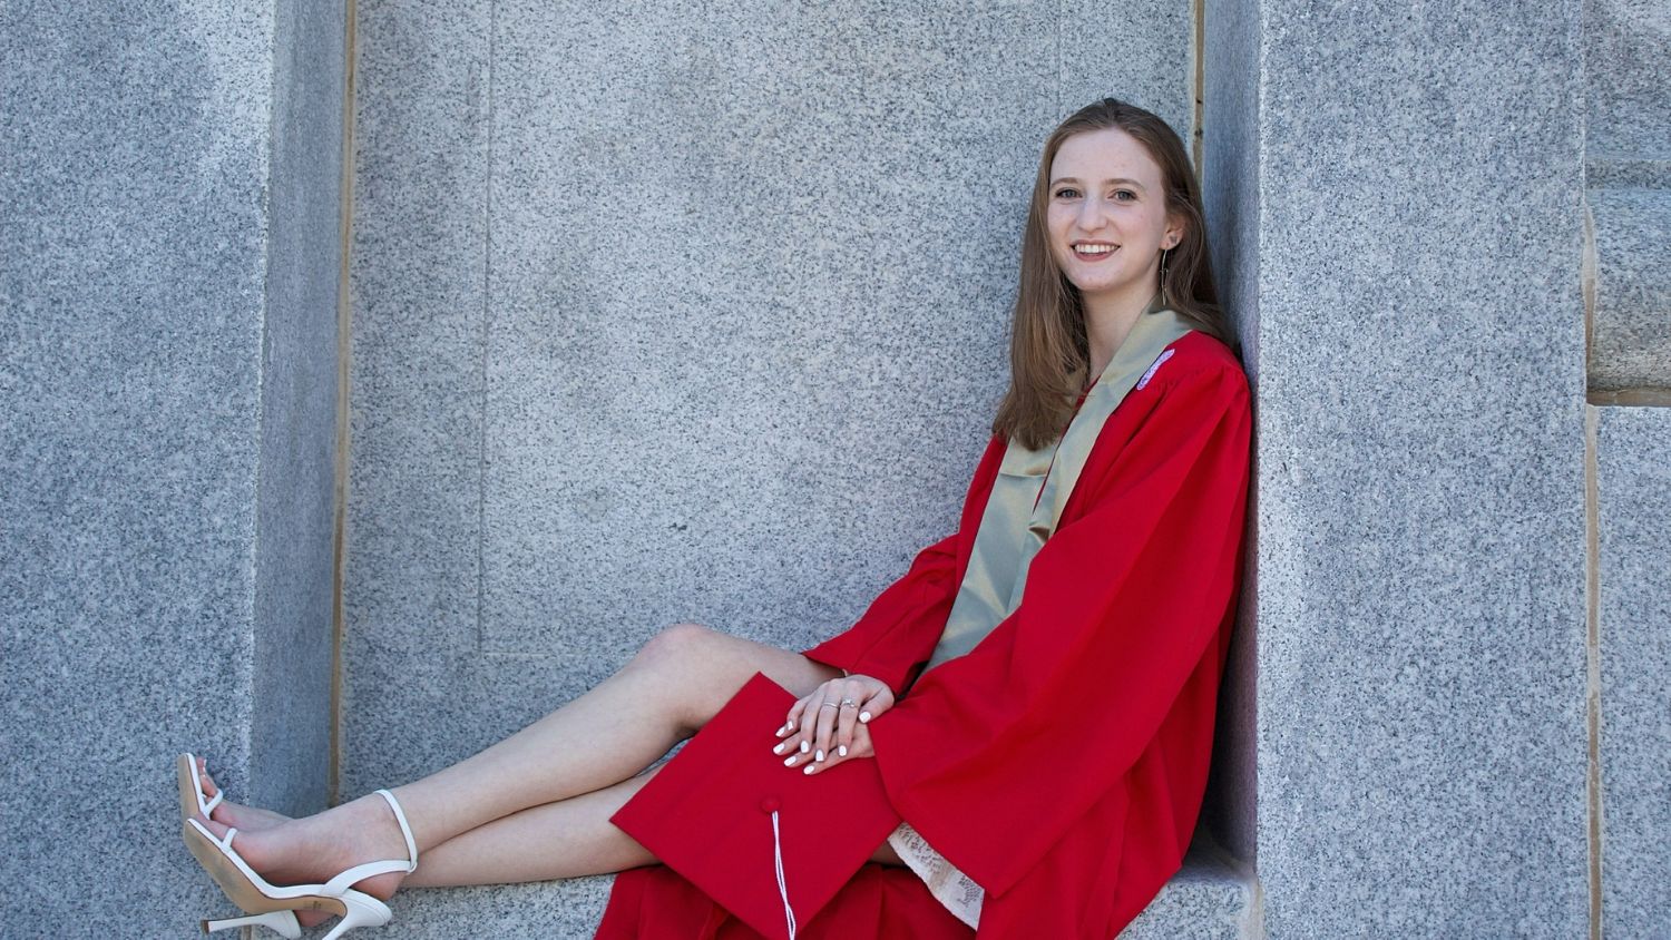
[[[1240,37],[1272,937],[1589,928],[1577,15],[1263,0]]]

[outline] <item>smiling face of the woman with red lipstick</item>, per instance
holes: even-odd
[[[1051,160],[1049,250],[1088,311],[1130,311],[1160,289],[1160,252],[1183,227],[1166,215],[1160,164],[1110,127],[1063,140]]]

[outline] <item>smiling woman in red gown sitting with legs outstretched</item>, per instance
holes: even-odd
[[[1250,409],[1215,301],[1176,134],[1081,109],[1039,160],[1011,387],[961,529],[859,623],[802,653],[675,624],[480,755],[299,820],[221,801],[185,756],[187,843],[262,923],[346,913],[331,937],[386,922],[398,887],[603,872],[622,875],[600,937],[795,935],[797,915],[805,937],[1115,937],[1188,848],[1233,618]],[[785,923],[759,930],[683,877],[712,872],[655,865],[612,821],[652,818],[655,790],[633,796],[683,755],[640,771],[755,673],[797,696],[769,718],[774,766],[847,766],[886,800],[827,815],[901,820],[817,910],[789,903],[774,841]]]

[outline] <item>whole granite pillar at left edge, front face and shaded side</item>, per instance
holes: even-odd
[[[274,60],[328,7],[0,5],[7,933],[180,937],[231,910],[179,841],[182,750],[237,796],[257,773],[274,801],[323,795],[323,763],[291,760],[317,756],[323,683],[277,715],[256,673],[329,654],[302,646],[329,624],[316,237],[339,210],[312,180],[336,152],[286,119],[339,124],[341,57]]]

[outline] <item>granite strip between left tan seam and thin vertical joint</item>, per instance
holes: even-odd
[[[438,668],[476,660],[488,317],[490,3],[356,13],[344,798],[480,746]]]

